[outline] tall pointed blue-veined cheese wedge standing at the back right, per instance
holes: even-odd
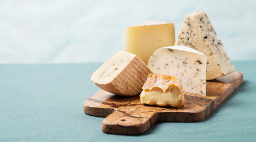
[[[235,71],[207,15],[201,11],[187,14],[175,45],[191,47],[207,56],[206,80]]]

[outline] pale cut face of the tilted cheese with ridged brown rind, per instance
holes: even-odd
[[[117,52],[92,74],[91,80],[102,84],[111,82],[135,56],[135,54],[124,51]]]

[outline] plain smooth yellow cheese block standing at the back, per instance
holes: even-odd
[[[147,64],[149,57],[160,47],[175,43],[174,24],[162,21],[146,21],[124,29],[124,49],[136,54]]]

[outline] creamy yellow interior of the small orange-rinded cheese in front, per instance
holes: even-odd
[[[140,94],[141,104],[157,105],[162,107],[178,107],[182,104],[182,96],[176,86],[172,86],[168,91],[154,88],[143,90]]]

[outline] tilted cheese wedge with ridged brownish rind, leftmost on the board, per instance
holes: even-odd
[[[152,73],[135,54],[119,51],[91,75],[99,88],[120,96],[134,96],[142,91],[147,74]]]

